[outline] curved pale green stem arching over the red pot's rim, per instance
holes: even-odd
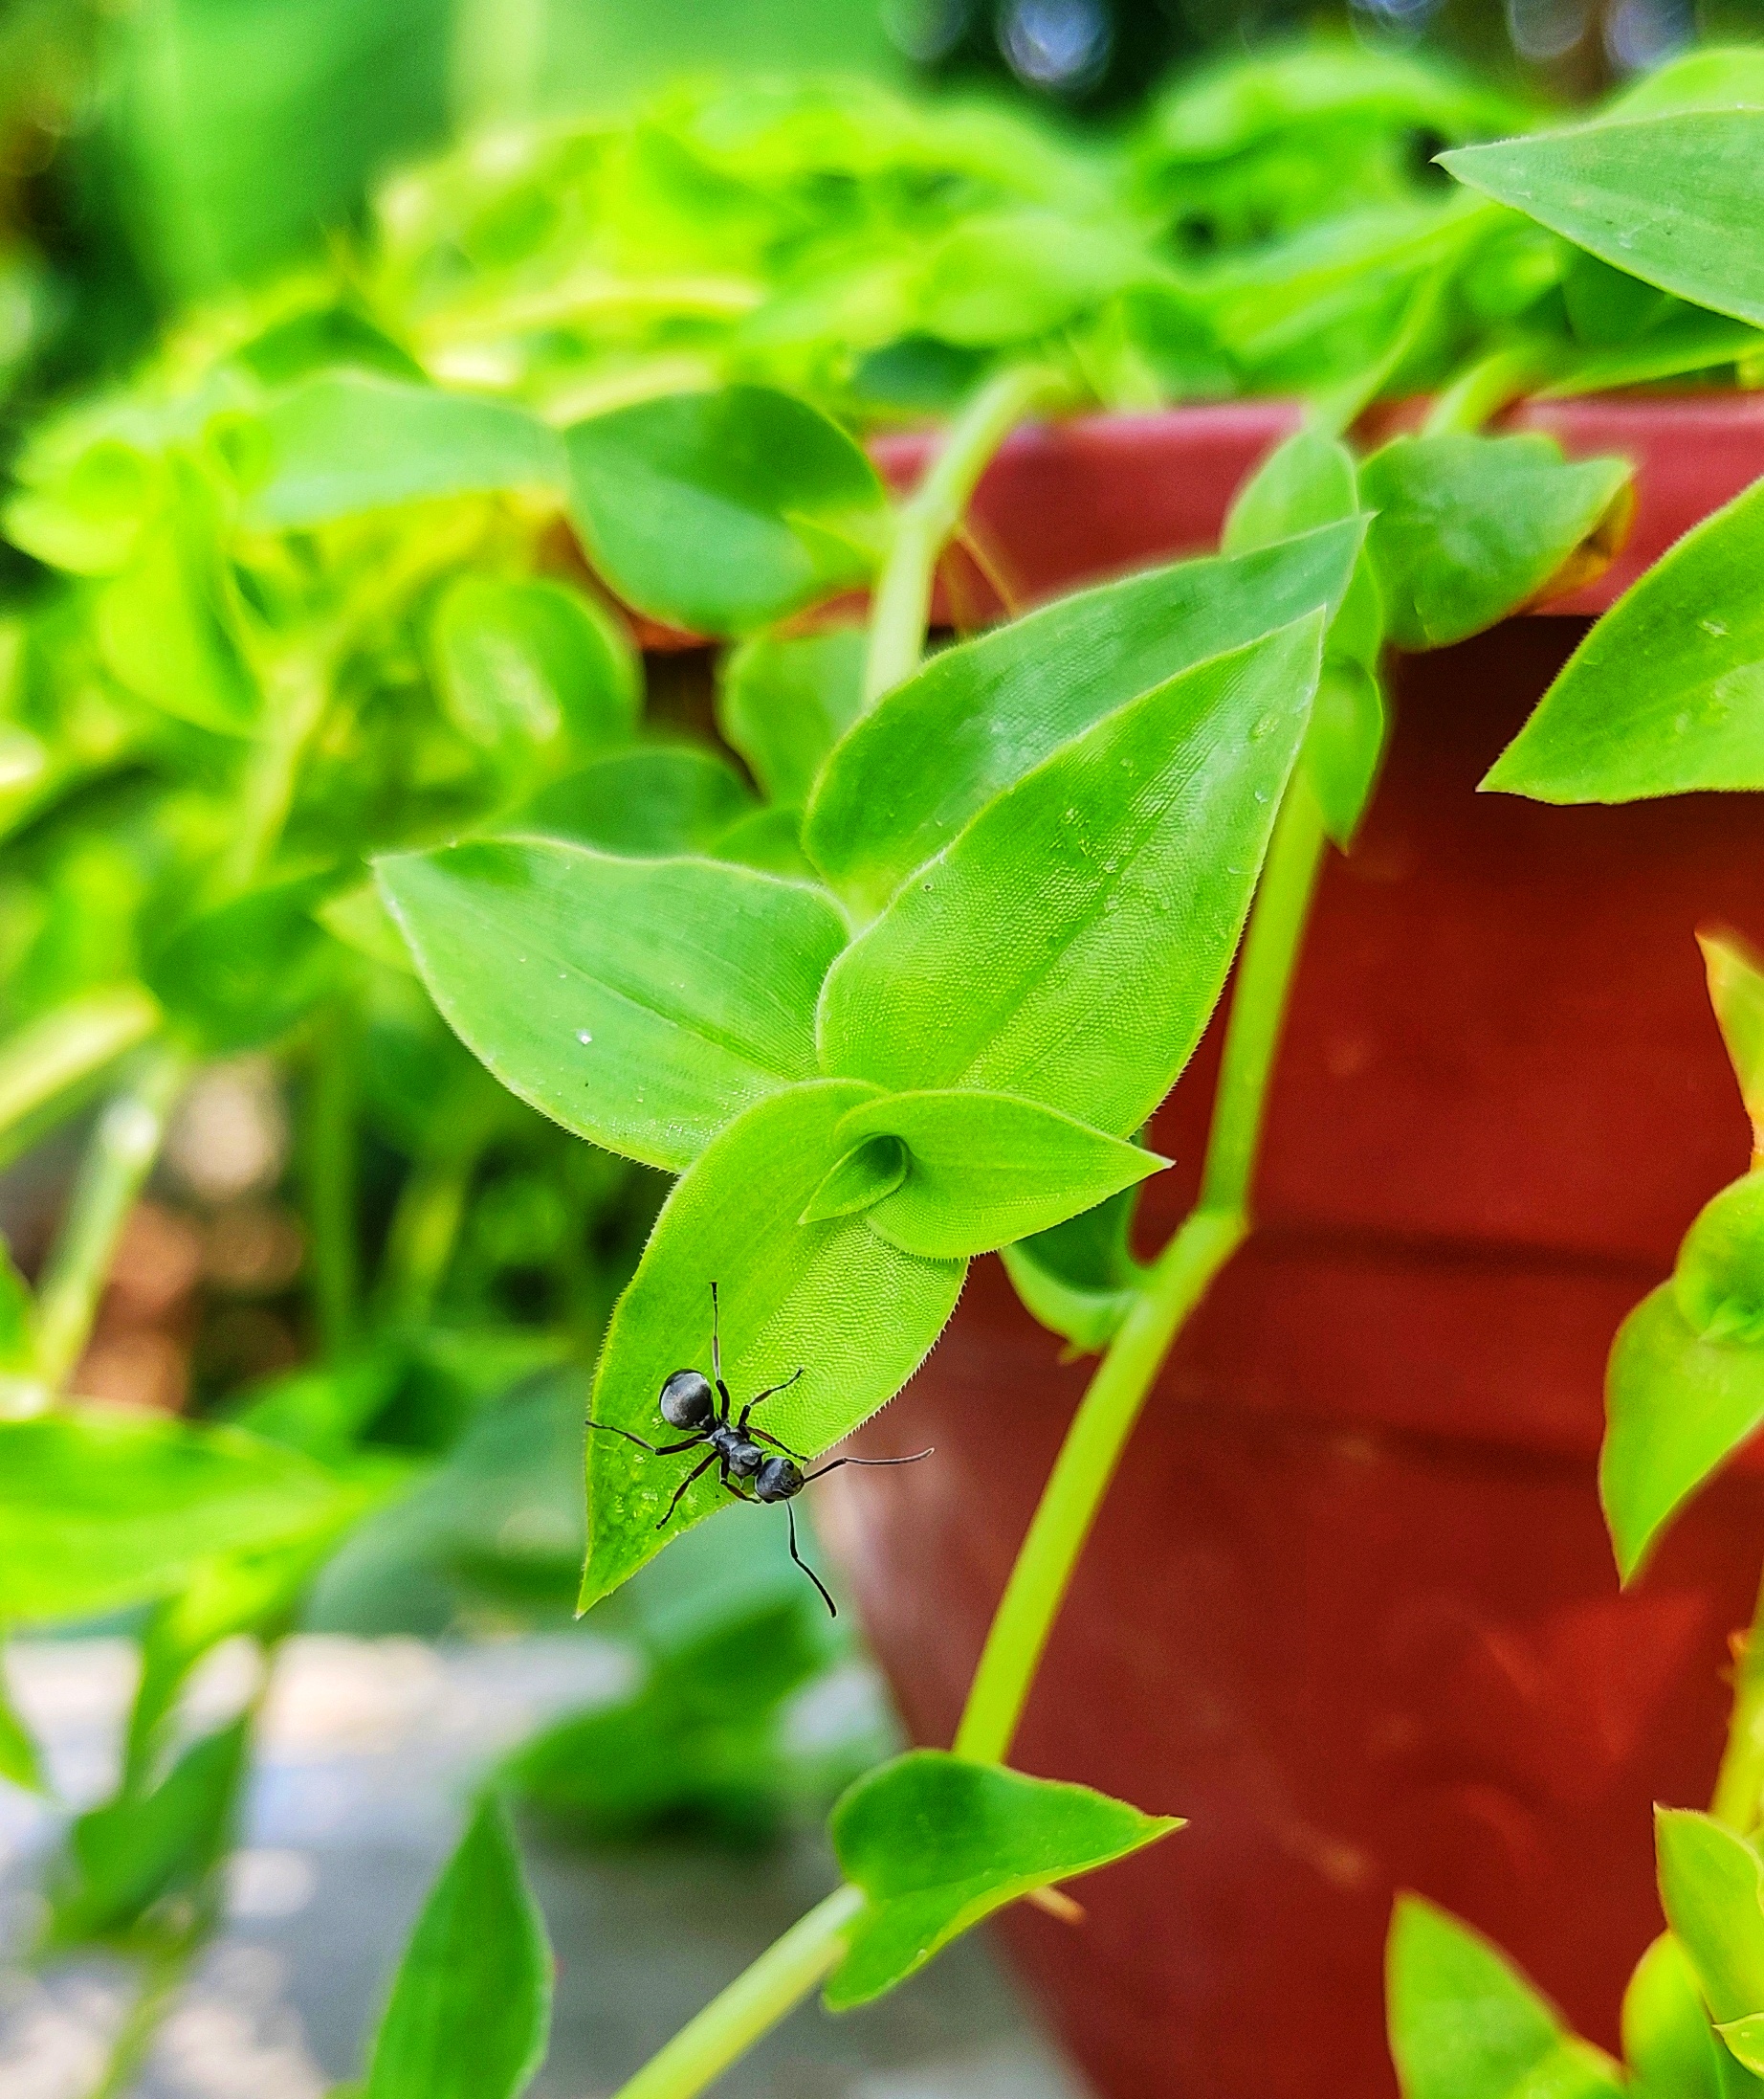
[[[1053,384],[1042,365],[1007,365],[994,374],[950,424],[942,451],[900,506],[870,611],[866,707],[919,667],[938,558],[961,525],[988,460]]]

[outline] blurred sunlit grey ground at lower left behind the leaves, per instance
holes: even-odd
[[[63,1799],[113,1776],[130,1692],[124,1641],[19,1644],[8,1671]],[[241,1658],[233,1658],[235,1662]],[[203,1685],[237,1702],[222,1654]],[[612,1694],[625,1662],[583,1637],[436,1650],[292,1641],[266,1713],[229,1925],[166,2023],[141,2099],[321,2099],[363,2030],[489,1757],[537,1721]],[[873,1696],[852,1669],[818,1698]],[[808,1715],[814,1723],[814,1715]],[[84,2099],[128,1971],[23,1975],[31,1885],[55,1818],[0,1788],[4,2099]],[[533,2099],[600,2099],[831,1885],[814,1839],[761,1858],[703,1849],[587,1856],[529,1845],[558,1952],[552,2059]],[[977,1937],[868,2011],[799,2011],[717,2086],[728,2099],[1082,2099]]]

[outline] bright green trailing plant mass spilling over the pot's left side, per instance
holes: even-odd
[[[1651,92],[1733,97],[1747,65]],[[1594,294],[1632,294],[1573,229],[1407,151],[1508,122],[1347,52],[1179,88],[1082,155],[824,86],[682,94],[394,183],[348,267],[193,319],[31,434],[4,514],[36,569],[0,657],[0,1133],[103,1108],[34,1285],[0,1278],[0,1620],[149,1610],[124,1782],[73,1830],[48,1942],[147,1960],[113,2084],[214,1918],[245,1759],[250,1713],[182,1746],[195,1662],[235,1633],[268,1658],[363,1515],[602,1322],[591,1417],[623,1436],[587,1453],[581,1597],[615,1591],[728,1507],[631,1442],[669,1373],[711,1366],[713,1285],[736,1402],[784,1387],[763,1427],[803,1459],[900,1390],[992,1249],[1103,1360],[954,1751],[858,1780],[843,1885],[631,2093],[696,2091],[818,1981],[877,1996],[1175,1828],[1005,1759],[1139,1406],[1250,1230],[1311,888],[1376,783],[1384,651],[1609,554],[1623,466],[1479,434],[1502,401],[1735,374],[1760,340],[1674,281],[1657,340],[1615,348]],[[1300,376],[1307,424],[1219,554],[921,661],[1013,424]],[[1359,414],[1418,384],[1428,424],[1361,451]],[[891,495],[858,439],[925,407],[950,411],[935,464]],[[644,707],[631,615],[722,644],[713,697],[652,672]],[[1200,1203],[1139,1261],[1145,1123],[1233,959]],[[239,1054],[298,1085],[310,1362],[212,1379],[195,1421],[67,1404],[178,1096]],[[675,1182],[604,1320],[640,1169]],[[682,1803],[558,1774],[596,1727],[615,1757],[621,1727],[673,1730],[684,1805],[715,1816],[789,1671],[730,1713],[677,1654],[508,1776],[640,1824]],[[0,1753],[31,1780],[15,1721]],[[474,1826],[459,1872],[497,1843]],[[422,1944],[430,1977],[455,1958],[440,1925]],[[524,2040],[470,2089],[520,2065]]]

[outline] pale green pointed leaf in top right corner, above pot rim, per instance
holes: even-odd
[[[1764,109],[1586,124],[1439,160],[1460,183],[1617,269],[1764,323]]]

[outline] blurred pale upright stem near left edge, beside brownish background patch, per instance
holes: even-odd
[[[99,1117],[38,1285],[42,1406],[59,1396],[86,1352],[122,1228],[166,1142],[166,1121],[187,1070],[180,1050],[153,1050],[134,1085]]]

